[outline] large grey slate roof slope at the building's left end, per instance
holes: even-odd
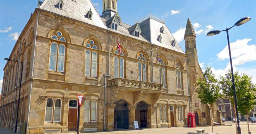
[[[103,29],[107,29],[107,26],[101,20],[100,15],[97,13],[93,3],[90,0],[62,0],[65,5],[63,5],[62,10],[58,8],[58,3],[60,0],[44,0],[44,2],[39,7],[40,9],[60,14],[68,18],[72,18],[84,23],[98,26]],[[94,14],[93,19],[88,19],[85,15],[90,11]]]

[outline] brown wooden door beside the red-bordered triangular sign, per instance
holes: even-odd
[[[68,130],[76,130],[77,128],[77,108],[69,109],[69,118],[67,121]]]

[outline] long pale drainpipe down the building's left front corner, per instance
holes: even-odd
[[[39,22],[39,13],[37,13],[37,22],[36,22],[36,35],[35,35],[35,47],[34,47],[34,55],[33,55],[33,64],[32,64],[32,74],[31,78],[33,78],[33,73],[34,73],[34,65],[35,65],[35,53],[36,53],[36,38],[37,38],[37,28],[38,28],[38,22]],[[28,129],[29,129],[29,114],[30,114],[30,103],[31,103],[31,94],[32,94],[32,83],[31,81],[31,86],[30,86],[30,95],[29,95],[29,113],[28,113],[28,121],[26,124],[26,133],[28,134]]]

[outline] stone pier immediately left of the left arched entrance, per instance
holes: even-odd
[[[106,125],[107,125],[107,130],[112,131],[114,130],[114,110],[115,109],[115,104],[108,104],[106,106]]]

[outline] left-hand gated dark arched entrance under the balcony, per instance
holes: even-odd
[[[114,124],[117,128],[129,129],[128,103],[120,99],[114,103]]]

